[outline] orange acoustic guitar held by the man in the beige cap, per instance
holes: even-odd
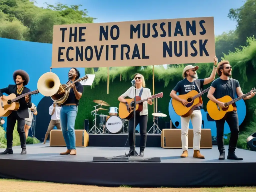
[[[203,103],[201,96],[208,92],[209,89],[210,87],[200,93],[196,90],[192,90],[187,94],[177,95],[180,99],[185,99],[188,102],[185,106],[182,102],[172,98],[172,105],[175,113],[181,117],[189,116],[197,106],[200,106]]]

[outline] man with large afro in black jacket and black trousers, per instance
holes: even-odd
[[[8,87],[0,89],[0,98],[3,99],[3,93],[12,94],[14,93],[16,97],[22,95],[24,93],[30,92],[30,89],[25,87],[29,82],[29,76],[26,71],[17,70],[13,73],[14,85],[8,85]],[[16,102],[19,102],[19,109],[17,111],[13,111],[7,117],[7,126],[6,126],[6,140],[7,140],[7,148],[4,152],[0,153],[0,155],[13,154],[13,130],[17,121],[17,131],[19,133],[20,138],[20,146],[22,151],[20,154],[27,154],[26,150],[26,136],[24,131],[25,126],[25,118],[28,118],[28,108],[32,107],[31,103],[31,95],[26,95],[23,98],[20,98]]]

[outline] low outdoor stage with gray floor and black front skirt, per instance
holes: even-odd
[[[225,146],[228,148],[228,146]],[[125,148],[126,153],[129,148]],[[0,177],[57,183],[137,187],[252,186],[256,184],[256,152],[237,149],[243,161],[218,160],[218,149],[203,149],[205,159],[180,158],[181,149],[149,147],[144,157],[160,157],[161,163],[92,162],[95,156],[124,154],[124,147],[78,147],[77,155],[59,155],[66,147],[27,145],[27,155],[0,155]],[[139,148],[136,149],[139,151]],[[4,151],[4,149],[1,149]],[[226,154],[227,157],[227,154]]]

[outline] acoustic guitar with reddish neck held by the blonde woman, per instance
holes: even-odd
[[[157,93],[155,95],[151,96],[153,98],[161,98],[163,97],[163,92]],[[141,100],[141,97],[136,96],[136,106],[135,111],[141,112],[143,110],[143,102],[147,101],[147,99]],[[121,119],[131,119],[133,117],[134,113],[134,98],[133,99],[125,99],[125,101],[128,103],[129,107],[126,106],[126,103],[120,102],[119,103],[119,117]]]

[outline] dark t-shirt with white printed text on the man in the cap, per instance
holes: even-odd
[[[200,86],[201,88],[203,88],[205,80],[204,79],[199,79],[199,80],[200,80]],[[198,93],[200,93],[199,89],[196,86],[195,81],[190,82],[187,80],[187,78],[179,81],[173,90],[179,93],[179,95],[187,94],[189,91],[192,91],[192,90],[196,90]],[[202,106],[196,107],[194,110],[200,110],[200,109],[202,109]]]

